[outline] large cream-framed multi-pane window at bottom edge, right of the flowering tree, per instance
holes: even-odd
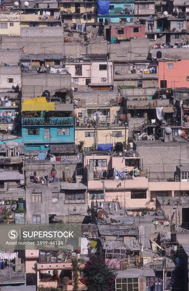
[[[139,291],[139,278],[116,278],[116,291]]]

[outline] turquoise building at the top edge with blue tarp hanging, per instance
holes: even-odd
[[[101,9],[103,2],[109,2],[109,9],[106,11]],[[134,21],[134,1],[107,1],[98,0],[98,22],[107,22],[107,18],[111,19],[111,22],[133,22]],[[105,13],[105,14],[103,14]]]

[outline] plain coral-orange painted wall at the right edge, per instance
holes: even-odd
[[[170,54],[170,58],[171,58],[171,54]],[[167,69],[167,64],[173,64],[173,69]],[[164,67],[164,72],[163,72],[163,67]],[[160,81],[163,80],[164,73],[165,73],[165,80],[167,80],[167,88],[174,88],[174,86],[175,87],[189,87],[189,81],[186,81],[186,77],[189,76],[188,68],[189,68],[189,60],[159,62],[158,87],[160,88]]]

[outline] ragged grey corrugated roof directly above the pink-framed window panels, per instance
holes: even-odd
[[[119,240],[112,242],[105,242],[104,249],[123,249],[130,251],[139,251],[140,246],[136,240],[132,240],[131,242],[120,242]]]

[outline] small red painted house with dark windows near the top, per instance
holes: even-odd
[[[131,37],[145,38],[145,25],[126,24],[125,26],[111,26],[111,43]]]

